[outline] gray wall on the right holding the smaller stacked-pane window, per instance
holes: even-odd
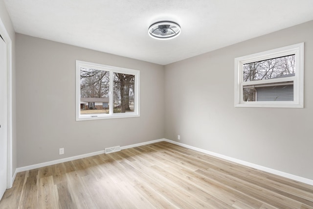
[[[305,43],[304,109],[235,108],[234,59]],[[165,138],[313,179],[313,21],[165,66]]]

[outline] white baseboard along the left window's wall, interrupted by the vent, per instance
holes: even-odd
[[[164,141],[164,140],[165,139],[156,139],[156,140],[146,141],[146,142],[142,142],[142,143],[122,146],[121,150],[122,149],[132,148],[132,147],[137,147],[137,146],[142,146],[142,145],[146,145],[146,144],[152,144],[152,143],[156,143],[156,142]],[[48,165],[54,165],[54,164],[58,164],[58,163],[65,163],[65,162],[68,162],[68,161],[73,161],[73,160],[87,158],[87,157],[90,157],[90,156],[101,155],[101,154],[104,154],[104,149],[102,151],[91,152],[91,153],[87,153],[87,154],[83,154],[83,155],[77,155],[77,156],[68,157],[68,158],[63,158],[63,159],[59,159],[59,160],[55,160],[55,161],[49,161],[49,162],[45,162],[45,163],[38,163],[38,164],[33,164],[33,165],[27,165],[27,166],[24,166],[24,167],[19,167],[15,171],[13,181],[15,179],[16,173],[18,173],[18,172],[31,170],[31,169],[35,169],[35,168],[40,168],[40,167],[45,167],[45,166],[48,166]]]

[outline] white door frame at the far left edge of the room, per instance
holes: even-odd
[[[11,188],[16,172],[13,176],[12,161],[12,40],[0,17],[0,34],[6,44],[7,59],[7,183],[6,187]]]

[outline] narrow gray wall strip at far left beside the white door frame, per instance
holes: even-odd
[[[15,31],[7,13],[3,0],[0,0],[0,19],[12,41],[12,174],[17,168],[17,137],[16,137],[16,88],[15,88]]]

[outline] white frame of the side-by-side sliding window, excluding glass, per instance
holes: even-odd
[[[109,114],[93,114],[93,115],[81,115],[80,114],[80,69],[91,68],[95,70],[105,70],[110,72],[110,92],[109,92]],[[135,76],[134,81],[134,112],[127,113],[113,113],[113,80],[114,72],[124,73]],[[109,118],[123,118],[123,117],[139,117],[139,83],[140,83],[140,71],[133,69],[126,69],[96,63],[90,63],[85,61],[76,60],[76,121],[79,120],[96,120],[96,119],[109,119]]]

